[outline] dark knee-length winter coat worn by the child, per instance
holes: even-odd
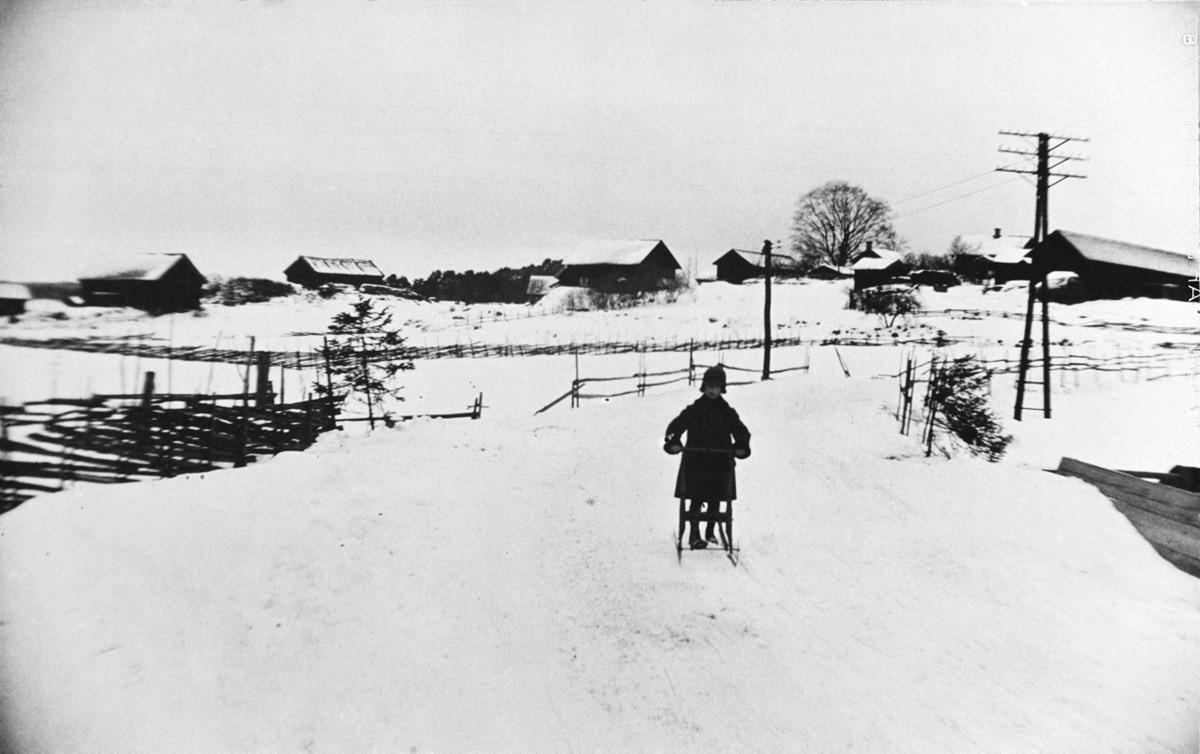
[[[688,442],[679,459],[676,497],[710,502],[737,499],[732,455],[686,450],[742,450],[750,455],[750,430],[742,424],[738,412],[724,397],[701,396],[667,425],[666,444],[679,443],[684,432]]]

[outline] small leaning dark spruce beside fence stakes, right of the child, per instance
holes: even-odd
[[[988,371],[976,357],[953,359],[938,370],[930,400],[938,425],[967,447],[972,455],[998,461],[1013,442],[988,406]]]

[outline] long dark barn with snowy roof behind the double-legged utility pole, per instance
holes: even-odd
[[[1055,231],[1030,255],[1048,271],[1079,275],[1085,299],[1152,297],[1187,300],[1189,281],[1200,274],[1188,255],[1124,241]]]

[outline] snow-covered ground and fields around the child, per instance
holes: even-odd
[[[781,333],[876,334],[845,283],[775,289]],[[412,342],[754,337],[758,286],[619,312],[397,301]],[[946,353],[1015,353],[1024,293],[923,292]],[[212,346],[319,333],[342,301],[205,316],[46,311],[0,337]],[[497,317],[497,312],[503,317]],[[526,316],[535,313],[538,316]],[[1194,305],[1051,309],[1056,348],[1186,353]],[[884,340],[884,342],[887,342]],[[0,347],[8,402],[240,384],[233,367]],[[235,471],[85,486],[0,516],[0,732],[13,752],[1196,752],[1200,581],[1062,456],[1200,465],[1200,365],[1067,373],[1055,413],[1010,419],[1003,461],[925,457],[893,418],[926,346],[779,348],[808,371],[730,388],[754,433],[733,568],[676,562],[666,423],[685,383],[565,402],[570,357],[436,360],[403,375],[416,420],[326,435]],[[631,375],[637,354],[581,357]],[[648,369],[686,354],[650,353]],[[756,367],[760,352],[701,353]],[[752,379],[752,372],[733,372]],[[313,375],[284,375],[299,396]],[[163,383],[160,383],[163,384]],[[223,387],[221,387],[223,385]]]

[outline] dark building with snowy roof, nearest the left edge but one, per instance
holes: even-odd
[[[88,306],[131,306],[156,313],[199,309],[205,282],[187,255],[174,253],[106,258],[79,277]]]

